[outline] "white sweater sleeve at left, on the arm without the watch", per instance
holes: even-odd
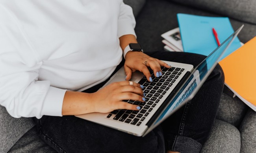
[[[11,116],[62,116],[66,90],[38,81],[41,65],[17,18],[0,4],[0,104]]]

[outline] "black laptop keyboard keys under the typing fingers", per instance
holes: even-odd
[[[138,111],[133,110],[114,110],[109,113],[107,118],[115,115],[113,120],[124,122],[131,125],[140,126],[145,118],[152,112],[160,99],[167,93],[170,87],[174,84],[176,79],[182,74],[185,69],[179,67],[161,67],[162,76],[156,78],[153,70],[150,70],[152,82],[149,82],[144,76],[138,83],[143,85],[142,89],[145,93],[145,102],[139,102],[135,100],[123,100],[129,104],[139,105],[141,107]]]

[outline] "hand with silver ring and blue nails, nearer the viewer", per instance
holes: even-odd
[[[143,86],[129,81],[114,82],[100,89],[95,93],[91,93],[92,105],[94,112],[108,113],[115,109],[139,110],[137,105],[123,102],[122,100],[137,100],[145,102]]]

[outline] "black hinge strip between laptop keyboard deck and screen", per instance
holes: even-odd
[[[182,79],[180,80],[180,82],[177,84],[176,87],[174,87],[173,91],[170,93],[170,95],[165,99],[165,101],[163,102],[163,104],[161,104],[161,106],[158,108],[158,110],[156,111],[156,113],[154,113],[154,115],[150,118],[150,120],[148,120],[146,126],[150,127],[154,121],[156,120],[156,118],[158,118],[159,114],[163,111],[163,109],[165,108],[165,104],[168,103],[173,96],[176,94],[176,92],[180,89],[180,87],[182,86],[182,84],[186,81],[186,79],[189,77],[189,75],[191,74],[191,72],[187,71],[186,74],[182,77]]]

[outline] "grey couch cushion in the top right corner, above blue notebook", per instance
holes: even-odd
[[[255,0],[172,0],[231,18],[256,24]]]

